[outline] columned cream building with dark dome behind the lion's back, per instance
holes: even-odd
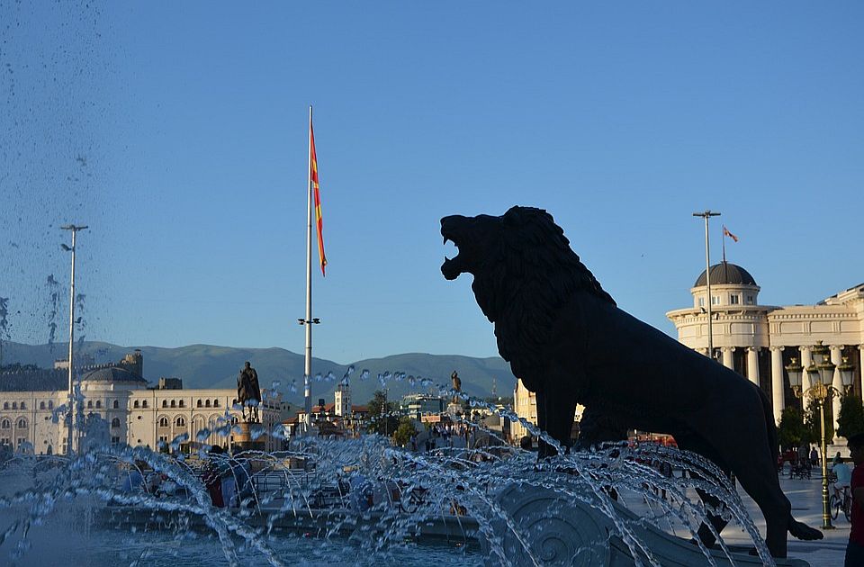
[[[780,413],[791,404],[800,404],[789,386],[785,366],[792,358],[805,367],[812,362],[817,341],[830,349],[831,361],[844,359],[855,367],[851,392],[861,396],[861,368],[864,366],[864,284],[835,293],[815,305],[761,305],[760,286],[741,266],[721,262],[711,266],[711,298],[707,296],[707,275],[703,271],[690,288],[693,303],[666,316],[678,330],[680,342],[709,355],[707,302],[711,302],[714,356],[742,374],[765,392],[779,423]],[[805,373],[803,387],[810,386]],[[833,386],[842,391],[840,372],[834,372]],[[804,403],[807,403],[805,400]],[[833,419],[839,403],[833,403]]]

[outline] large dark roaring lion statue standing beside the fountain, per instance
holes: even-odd
[[[581,403],[586,424],[605,423],[585,428],[585,435],[620,436],[626,428],[670,434],[680,448],[735,474],[765,517],[775,557],[786,557],[787,531],[799,539],[823,537],[792,518],[780,490],[777,430],[765,394],[618,309],[548,212],[517,206],[500,217],[448,216],[441,234],[459,250],[445,258],[442,274],[474,276],[474,296],[495,325],[500,355],[536,392],[540,428],[569,446]],[[596,440],[581,438],[588,445]],[[541,449],[541,456],[554,450]],[[725,526],[719,517],[710,520],[717,533]],[[699,537],[715,543],[707,526]]]

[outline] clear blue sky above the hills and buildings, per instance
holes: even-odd
[[[0,4],[4,338],[66,337],[71,221],[87,339],[302,352],[309,104],[316,356],[495,355],[438,220],[513,204],[671,334],[693,211],[762,303],[864,281],[860,3],[246,4]]]

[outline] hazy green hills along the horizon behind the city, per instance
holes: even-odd
[[[123,356],[140,348],[144,356],[144,378],[150,383],[156,383],[162,377],[175,377],[183,380],[184,388],[234,388],[237,386],[237,374],[245,361],[256,368],[262,388],[273,387],[278,382],[277,389],[283,392],[288,401],[302,405],[303,395],[303,356],[284,348],[236,348],[214,347],[211,345],[190,345],[188,347],[119,347],[109,343],[85,342],[76,348],[76,353],[90,356],[97,364],[116,362]],[[3,364],[21,363],[33,364],[42,368],[50,368],[54,360],[66,358],[68,343],[53,345],[24,345],[22,343],[3,343]],[[77,356],[76,356],[77,358]],[[378,382],[378,374],[385,372],[402,372],[414,376],[430,378],[436,384],[448,385],[450,373],[454,370],[462,378],[462,388],[473,396],[487,397],[491,395],[492,383],[500,396],[512,396],[516,379],[510,374],[509,364],[497,356],[490,358],[474,358],[472,356],[427,355],[410,353],[403,355],[371,358],[353,363],[354,374],[351,375],[351,397],[355,404],[365,404],[372,399],[375,390],[382,388]],[[333,401],[333,390],[336,383],[347,372],[349,365],[338,365],[329,360],[312,359],[313,374],[321,374],[320,382],[312,382],[312,399],[317,403],[319,398]],[[360,374],[369,370],[368,380],[361,381]],[[336,380],[327,381],[328,373]],[[294,384],[296,392],[292,392]],[[419,383],[411,387],[407,380],[396,382],[390,380],[387,384],[391,400],[401,398],[410,392],[423,392],[425,389]],[[428,390],[428,389],[426,389]]]

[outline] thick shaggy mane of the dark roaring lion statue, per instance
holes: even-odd
[[[513,207],[500,228],[472,289],[483,314],[495,324],[500,356],[536,392],[545,375],[545,346],[563,306],[580,291],[613,305],[615,300],[581,263],[548,212]]]

